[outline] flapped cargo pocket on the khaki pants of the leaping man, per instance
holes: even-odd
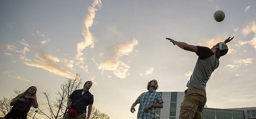
[[[192,119],[193,118],[193,111],[192,108],[194,104],[191,103],[183,103],[180,107],[179,112],[179,119]]]

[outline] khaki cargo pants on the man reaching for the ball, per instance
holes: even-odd
[[[206,103],[205,90],[188,87],[180,106],[179,119],[202,119],[202,110]]]

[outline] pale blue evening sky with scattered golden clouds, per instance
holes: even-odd
[[[213,14],[225,13],[216,22]],[[0,1],[0,94],[30,86],[52,94],[65,77],[93,82],[93,106],[111,119],[157,79],[159,92],[187,89],[198,56],[165,38],[212,47],[229,36],[228,54],[207,83],[210,108],[256,107],[256,1]],[[138,105],[135,107],[138,110]]]

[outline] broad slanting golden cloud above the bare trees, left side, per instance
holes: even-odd
[[[60,76],[71,77],[71,73],[69,71],[57,64],[57,62],[61,61],[59,58],[41,50],[38,51],[38,54],[35,54],[35,57],[35,59],[29,59],[26,56],[21,55],[20,59],[22,59],[24,64],[28,66],[42,68]]]

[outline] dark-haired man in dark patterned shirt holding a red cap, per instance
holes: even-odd
[[[90,119],[93,105],[93,95],[89,92],[89,89],[92,87],[92,85],[93,83],[91,81],[87,81],[85,82],[83,89],[75,90],[71,93],[67,102],[67,108],[70,109],[70,106],[74,105],[77,110],[77,115],[75,117],[71,117],[70,115],[66,114],[63,119],[85,119],[86,107],[88,105],[87,119]]]

